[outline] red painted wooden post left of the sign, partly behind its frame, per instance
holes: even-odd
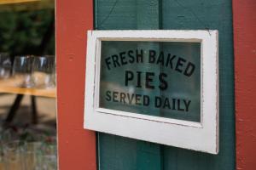
[[[96,170],[95,133],[83,129],[86,31],[92,0],[56,0],[57,130],[61,170]]]

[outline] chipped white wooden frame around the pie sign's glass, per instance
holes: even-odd
[[[84,128],[218,154],[218,31],[88,31]],[[201,42],[201,122],[99,108],[101,41]]]

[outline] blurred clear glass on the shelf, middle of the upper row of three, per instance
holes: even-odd
[[[32,88],[34,86],[32,79],[32,63],[33,56],[15,56],[13,76],[15,77],[15,84],[20,88]]]

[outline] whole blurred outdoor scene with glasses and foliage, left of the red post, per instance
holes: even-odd
[[[54,0],[0,0],[0,60],[0,170],[56,169]]]

